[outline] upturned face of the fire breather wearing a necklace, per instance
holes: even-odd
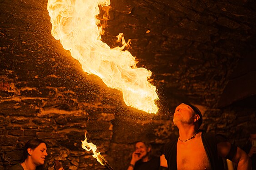
[[[195,112],[190,106],[186,104],[180,104],[175,109],[175,113],[173,116],[173,123],[175,126],[177,126],[177,123],[179,122],[190,124],[190,123],[193,123],[194,116],[195,116]]]

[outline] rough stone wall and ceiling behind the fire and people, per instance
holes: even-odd
[[[255,108],[216,108],[228,76],[256,48],[255,2],[113,0],[102,37],[113,46],[120,32],[139,67],[153,72],[160,111],[125,106],[122,94],[88,75],[51,34],[47,1],[0,2],[0,170],[18,163],[31,138],[48,144],[47,169],[104,169],[81,148],[89,142],[115,170],[127,168],[136,141],[161,146],[178,135],[170,114],[181,102],[196,104],[202,128],[243,146],[255,125]]]

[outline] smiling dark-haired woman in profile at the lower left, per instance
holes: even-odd
[[[40,139],[29,140],[23,150],[23,162],[14,165],[10,170],[43,170],[45,157],[48,155],[46,143]],[[59,170],[64,170],[62,167]]]

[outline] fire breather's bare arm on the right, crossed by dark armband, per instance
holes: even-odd
[[[231,149],[230,142],[220,142],[217,144],[219,156],[226,157]],[[236,155],[232,162],[237,163],[237,170],[251,170],[251,160],[245,151],[237,147]]]

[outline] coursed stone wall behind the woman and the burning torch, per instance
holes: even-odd
[[[70,170],[104,169],[90,152],[81,148],[85,132],[89,142],[97,145],[102,155],[110,148],[111,121],[115,119],[117,109],[102,103],[104,92],[97,96],[96,92],[78,94],[79,87],[75,87],[76,91],[53,86],[20,87],[25,82],[15,77],[16,80],[11,80],[1,76],[0,169],[8,169],[20,162],[22,148],[32,138],[42,139],[48,144],[46,166],[49,170],[53,170],[53,160],[60,160],[65,169]],[[86,102],[84,95],[91,95],[93,99]]]

